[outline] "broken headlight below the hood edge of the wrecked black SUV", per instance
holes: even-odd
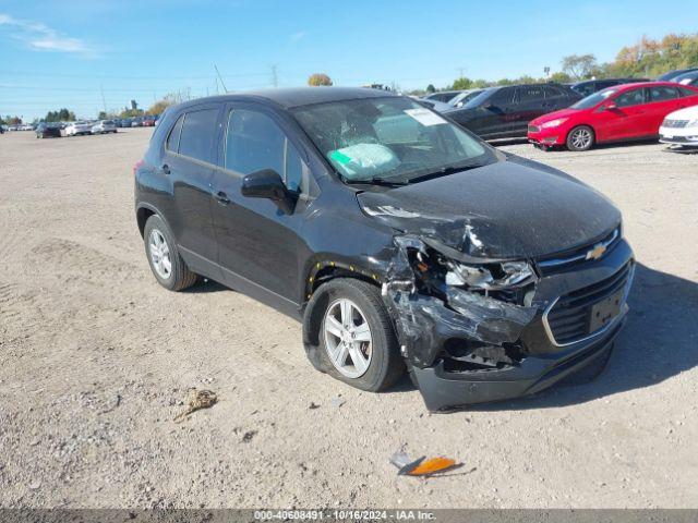
[[[444,278],[448,285],[494,291],[524,287],[535,280],[535,272],[528,262],[466,265],[446,259],[444,263],[448,268]]]

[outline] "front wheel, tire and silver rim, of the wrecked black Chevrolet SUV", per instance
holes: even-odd
[[[322,285],[326,293],[320,358],[333,377],[377,392],[405,372],[393,321],[375,285],[338,278]]]

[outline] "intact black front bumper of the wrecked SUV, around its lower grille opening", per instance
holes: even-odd
[[[561,295],[593,288],[627,268],[619,314],[591,336],[558,343],[546,321],[546,311]],[[413,378],[430,411],[453,410],[476,403],[509,400],[539,392],[590,365],[603,365],[621,331],[628,306],[625,303],[634,271],[633,251],[619,240],[603,258],[583,262],[543,275],[533,305],[539,314],[524,330],[525,353],[519,362],[503,367],[447,370],[442,356],[426,367],[413,365]],[[617,292],[617,290],[616,290]]]

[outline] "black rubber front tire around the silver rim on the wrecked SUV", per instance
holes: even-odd
[[[383,304],[380,289],[365,281],[351,278],[337,278],[323,284],[317,292],[325,293],[327,297],[327,300],[324,301],[326,306],[322,314],[320,350],[317,351],[323,369],[340,381],[371,392],[385,390],[400,379],[405,373],[405,363],[400,356],[393,320]],[[354,318],[358,326],[352,325],[351,328],[361,329],[363,323],[368,324],[369,327],[370,342],[353,342],[358,343],[358,345],[353,345],[354,349],[349,349],[346,352],[348,358],[345,361],[348,362],[352,361],[352,354],[357,353],[357,349],[361,351],[365,350],[366,352],[370,349],[368,367],[361,372],[358,366],[353,365],[353,374],[358,374],[356,376],[345,374],[350,372],[351,365],[346,366],[342,372],[338,368],[337,364],[333,362],[330,357],[332,349],[328,348],[328,335],[326,331],[326,324],[329,321],[328,317],[332,315],[330,312],[337,311],[337,307],[341,309],[340,303],[345,303],[346,301],[356,305],[354,313],[358,312]],[[337,324],[335,324],[335,326]],[[345,333],[347,332],[345,331]],[[357,337],[361,335],[357,335]],[[337,340],[338,338],[335,335],[329,336],[330,343]],[[363,352],[361,354],[365,355]]]

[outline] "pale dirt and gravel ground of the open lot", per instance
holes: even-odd
[[[0,136],[0,506],[698,507],[698,155],[506,146],[621,207],[631,313],[594,382],[430,415],[407,380],[316,373],[300,325],[234,291],[158,287],[131,172],[151,133]],[[173,423],[192,387],[218,404]],[[402,447],[464,466],[398,477]]]

